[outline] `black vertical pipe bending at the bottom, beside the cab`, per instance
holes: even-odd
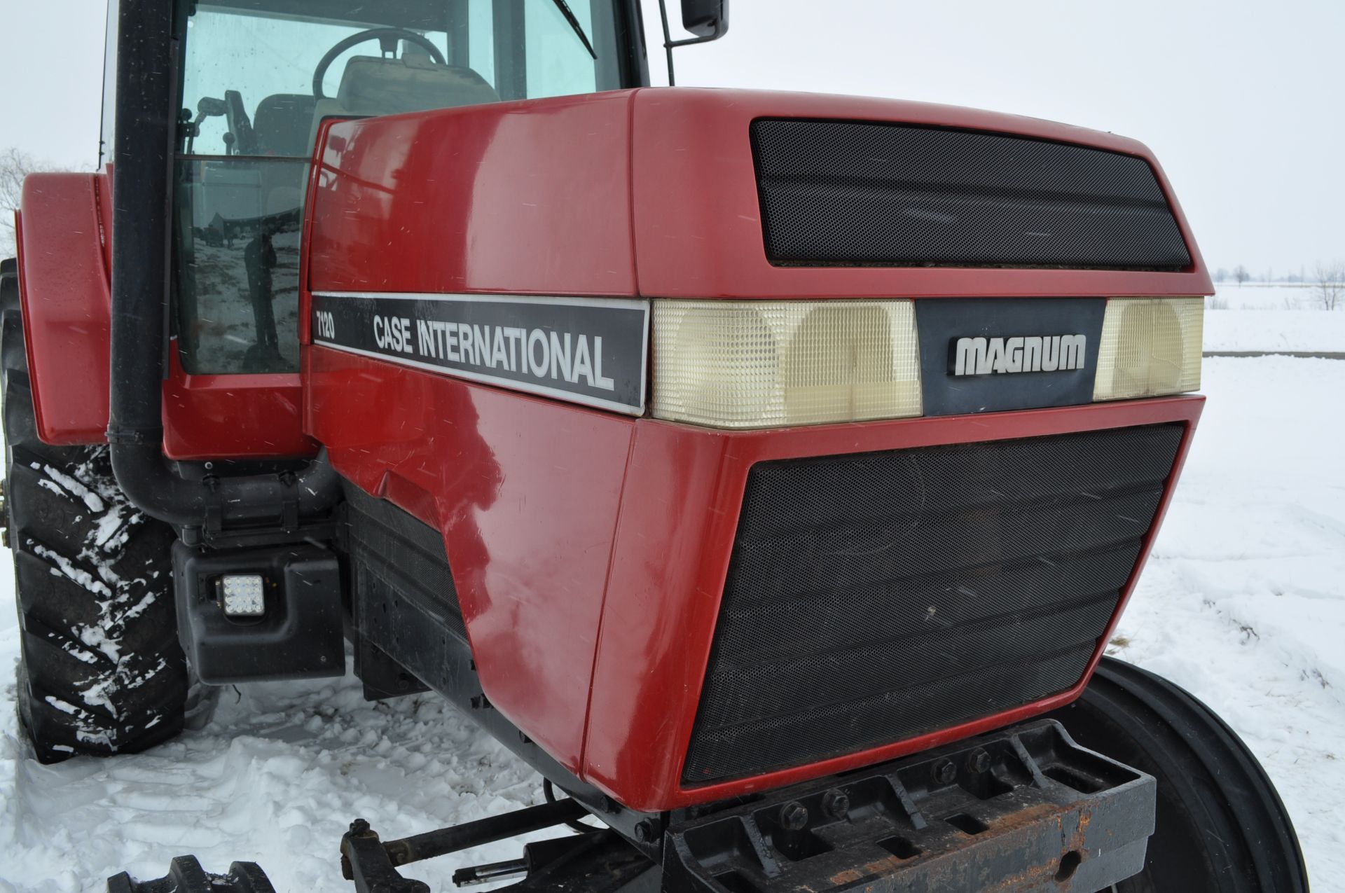
[[[217,477],[163,455],[168,221],[175,126],[174,0],[122,0],[113,160],[112,469],[141,511],[179,529],[295,526],[339,492],[325,453],[297,472]]]

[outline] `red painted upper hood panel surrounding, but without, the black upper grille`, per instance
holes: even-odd
[[[1205,295],[1181,273],[772,266],[749,125],[846,118],[995,130],[1149,161],[1124,137],[943,105],[644,89],[347,121],[331,128],[311,239],[315,290],[936,297]],[[464,175],[467,172],[468,175]]]

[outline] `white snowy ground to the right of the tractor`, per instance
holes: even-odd
[[[1244,737],[1294,816],[1313,889],[1341,892],[1345,360],[1205,359],[1201,390],[1196,442],[1111,652]]]

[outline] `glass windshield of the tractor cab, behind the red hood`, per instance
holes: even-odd
[[[323,118],[623,86],[612,0],[222,0],[179,22],[174,272],[191,374],[297,371]]]

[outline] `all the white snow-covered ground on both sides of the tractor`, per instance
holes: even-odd
[[[1204,393],[1111,651],[1245,737],[1294,815],[1314,889],[1345,890],[1345,362],[1206,359]],[[184,853],[210,870],[257,861],[282,892],[343,890],[336,847],[356,816],[401,837],[539,800],[537,775],[437,697],[364,703],[348,676],[226,690],[204,729],[153,752],[40,767],[16,729],[4,573],[0,892],[160,877]],[[516,855],[498,843],[408,873],[451,890],[455,867]]]

